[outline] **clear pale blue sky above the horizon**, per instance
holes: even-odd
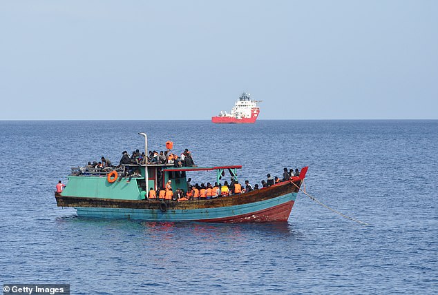
[[[0,119],[438,119],[438,1],[1,1]]]

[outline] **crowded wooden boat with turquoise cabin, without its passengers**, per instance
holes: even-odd
[[[147,137],[145,145],[147,150]],[[55,193],[59,207],[74,207],[78,216],[94,218],[131,218],[144,221],[202,221],[202,222],[274,222],[287,221],[305,178],[308,167],[299,177],[243,194],[219,196],[215,199],[190,201],[148,200],[149,187],[164,187],[171,180],[173,191],[187,192],[187,174],[216,171],[220,180],[228,171],[235,179],[240,165],[216,167],[173,167],[173,165],[124,165],[122,170],[140,170],[129,183],[111,181],[108,172],[75,169],[68,184]],[[123,171],[121,171],[123,172]],[[161,175],[161,176],[160,176]],[[148,179],[148,181],[146,181]]]

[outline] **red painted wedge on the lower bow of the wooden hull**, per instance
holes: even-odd
[[[200,219],[200,222],[224,222],[224,223],[241,223],[241,222],[272,222],[272,221],[287,221],[289,218],[294,201],[289,201],[274,207],[270,207],[264,210],[251,212],[248,214],[212,218],[212,219]]]

